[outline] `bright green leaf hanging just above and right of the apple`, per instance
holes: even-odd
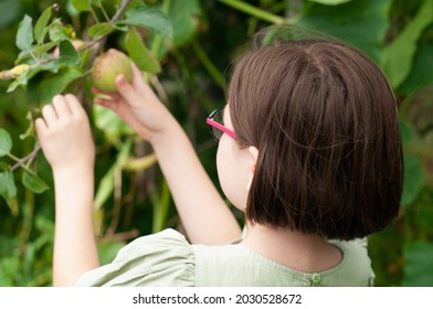
[[[161,71],[157,57],[146,47],[141,35],[131,28],[125,36],[125,47],[129,57],[145,72],[158,73]]]

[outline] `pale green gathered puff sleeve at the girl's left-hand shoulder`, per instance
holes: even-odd
[[[175,230],[135,239],[107,265],[81,276],[77,286],[194,286],[194,256]]]

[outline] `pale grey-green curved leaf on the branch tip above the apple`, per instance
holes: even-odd
[[[166,38],[172,38],[171,21],[165,13],[152,8],[137,7],[127,11],[126,19],[119,21],[118,24],[142,26]]]

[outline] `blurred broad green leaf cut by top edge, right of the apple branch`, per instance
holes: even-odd
[[[173,44],[177,47],[191,41],[199,26],[201,7],[198,0],[172,1],[169,18],[173,29]]]

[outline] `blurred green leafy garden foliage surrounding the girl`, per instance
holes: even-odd
[[[116,47],[148,73],[216,183],[215,145],[203,119],[224,104],[231,60],[270,24],[335,35],[389,77],[400,102],[405,182],[399,217],[369,237],[376,285],[433,286],[433,0],[1,0],[0,11],[0,71],[30,65],[0,81],[0,286],[52,284],[53,183],[31,126],[43,104],[73,92],[91,116],[95,223],[108,263],[138,235],[182,226],[152,150],[93,106],[94,56]],[[86,42],[80,52],[77,39]]]

